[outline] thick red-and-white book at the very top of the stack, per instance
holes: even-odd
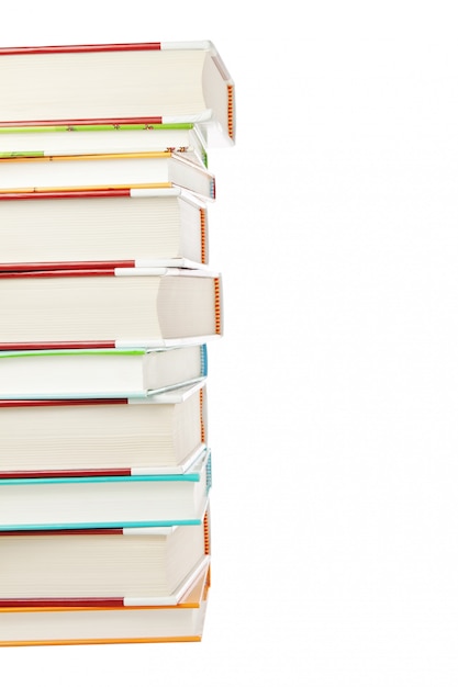
[[[210,41],[0,48],[0,124],[198,123],[235,138],[233,80]]]

